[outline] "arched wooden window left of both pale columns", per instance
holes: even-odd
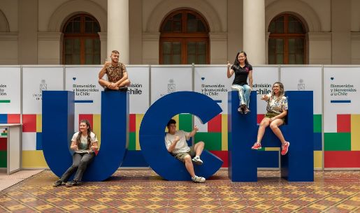
[[[63,64],[100,64],[99,22],[91,15],[75,15],[64,24]]]

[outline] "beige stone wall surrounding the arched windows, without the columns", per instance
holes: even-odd
[[[101,61],[107,57],[107,0],[34,0],[38,4],[38,17],[34,17],[31,13],[29,22],[31,21],[32,24],[29,23],[29,26],[37,29],[27,29],[28,24],[22,21],[27,19],[24,18],[24,14],[23,16],[19,14],[19,8],[24,9],[20,3],[26,0],[0,1],[0,10],[6,17],[9,29],[8,32],[0,32],[0,64],[22,64],[27,55],[24,48],[30,48],[31,54],[37,52],[36,56],[29,57],[34,61],[31,64],[61,64],[62,24],[69,16],[83,12],[94,15],[100,22]],[[307,36],[310,64],[360,64],[359,0],[345,0],[347,5],[350,2],[348,7],[350,9],[346,11],[345,16],[343,13],[331,12],[331,5],[334,2],[340,2],[341,5],[343,1],[264,1],[265,34],[268,23],[279,13],[294,13],[306,22],[309,29]],[[168,13],[178,8],[193,8],[208,21],[210,64],[225,64],[226,61],[232,63],[236,52],[243,49],[243,0],[129,0],[129,8],[131,64],[159,64],[161,21]],[[331,17],[346,23],[335,24],[331,22]],[[37,24],[34,24],[34,20],[37,20]],[[22,29],[20,29],[20,21]],[[343,29],[340,29],[342,25],[350,27],[342,32]],[[31,32],[30,40],[26,37],[27,31]],[[34,37],[36,34],[37,39]],[[19,44],[20,40],[22,45]],[[334,51],[345,54],[338,56]]]

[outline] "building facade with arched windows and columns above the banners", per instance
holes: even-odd
[[[359,64],[357,0],[0,0],[0,64]]]

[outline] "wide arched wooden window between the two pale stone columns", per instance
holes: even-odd
[[[176,10],[160,28],[159,64],[209,64],[209,27],[192,10]]]

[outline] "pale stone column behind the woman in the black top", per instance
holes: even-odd
[[[252,64],[266,64],[265,2],[243,0],[243,46]]]

